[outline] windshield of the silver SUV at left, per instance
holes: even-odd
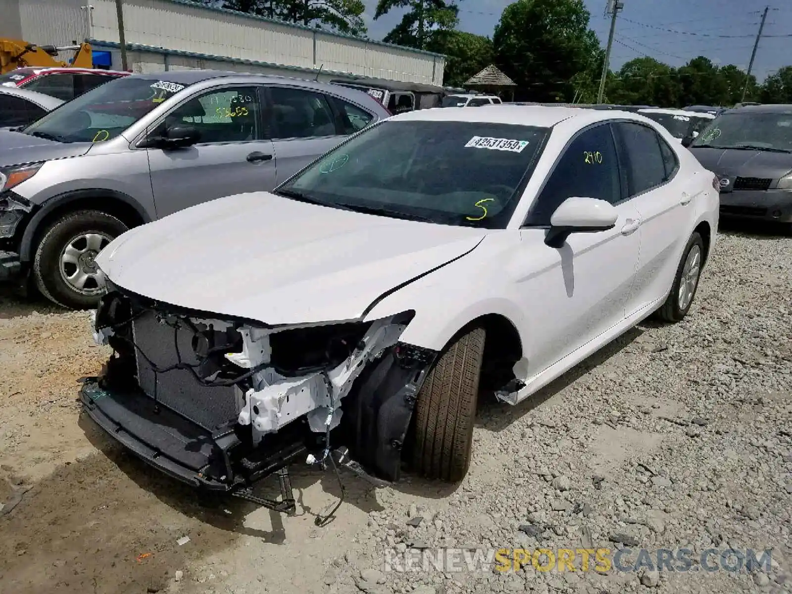
[[[22,131],[61,143],[101,143],[184,88],[154,78],[116,78],[67,101]]]

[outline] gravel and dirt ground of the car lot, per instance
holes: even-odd
[[[2,293],[0,584],[14,594],[792,592],[792,238],[720,240],[684,322],[643,323],[520,406],[482,403],[461,485],[408,477],[372,490],[345,476],[347,503],[323,528],[314,517],[340,493],[330,476],[295,469],[294,517],[218,508],[109,444],[74,403],[78,378],[107,354],[86,314]],[[600,572],[592,556],[588,571],[401,573],[383,561],[490,547],[611,558],[630,548],[623,562],[681,548],[692,565]],[[771,554],[751,571],[699,566],[703,551],[729,548]]]

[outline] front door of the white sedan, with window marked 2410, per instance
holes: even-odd
[[[558,249],[546,246],[550,216],[573,196],[614,204],[615,227],[573,233]],[[528,322],[524,335],[531,337],[524,345],[529,377],[622,322],[639,247],[638,211],[622,196],[611,127],[588,128],[559,158],[521,230],[526,274],[517,291]]]

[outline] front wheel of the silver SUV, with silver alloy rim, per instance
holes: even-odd
[[[105,280],[93,259],[128,227],[102,211],[76,211],[55,220],[36,247],[32,276],[50,301],[72,309],[96,307]]]

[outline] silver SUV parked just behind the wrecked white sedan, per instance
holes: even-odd
[[[104,279],[93,258],[125,230],[270,190],[388,116],[354,89],[257,74],[182,70],[98,86],[0,131],[0,280],[30,272],[55,303],[95,307]]]

